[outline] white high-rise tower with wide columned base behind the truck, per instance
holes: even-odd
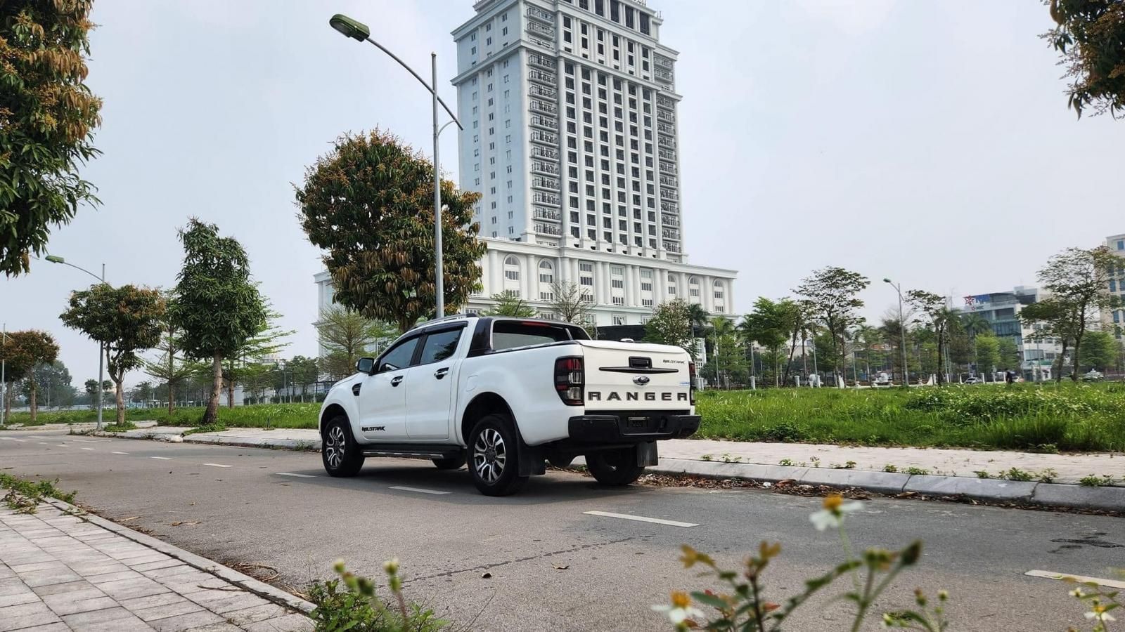
[[[734,315],[737,272],[683,250],[675,63],[645,0],[479,0],[453,30],[460,187],[476,208],[487,310],[507,292],[552,317],[575,283],[600,326],[683,298]],[[331,297],[317,276],[321,305]]]

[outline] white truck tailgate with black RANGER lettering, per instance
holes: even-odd
[[[579,341],[586,410],[687,410],[688,355],[660,344]]]

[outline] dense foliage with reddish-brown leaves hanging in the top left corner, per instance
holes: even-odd
[[[46,250],[52,225],[98,201],[78,174],[99,153],[90,143],[101,100],[84,83],[91,3],[0,2],[0,272],[9,277]]]

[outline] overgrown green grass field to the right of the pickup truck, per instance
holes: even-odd
[[[1037,452],[1125,450],[1122,385],[704,391],[700,439],[960,446]]]

